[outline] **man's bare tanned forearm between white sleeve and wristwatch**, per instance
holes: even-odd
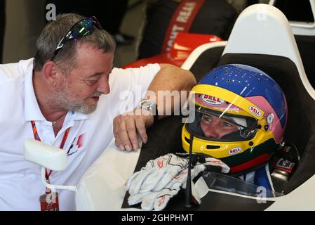
[[[186,101],[189,91],[196,85],[196,79],[189,70],[182,70],[174,65],[160,64],[161,70],[149,86],[147,97],[158,106],[159,118],[175,113]]]

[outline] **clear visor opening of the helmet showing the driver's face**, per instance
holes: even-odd
[[[202,95],[205,96],[205,95]],[[257,132],[257,120],[241,108],[220,98],[211,97],[220,105],[210,105],[199,101],[200,94],[193,95],[189,111],[194,113],[194,121],[186,124],[187,130],[201,139],[209,141],[247,141]],[[209,98],[209,97],[206,97]]]

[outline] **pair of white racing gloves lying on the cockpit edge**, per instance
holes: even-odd
[[[177,154],[187,157],[189,154]],[[163,210],[174,195],[180,191],[180,187],[186,187],[188,158],[178,157],[174,154],[163,155],[156,160],[150,160],[139,172],[135,172],[127,181],[126,191],[129,191],[129,205],[142,202],[142,210]],[[202,154],[192,155],[192,179],[200,172],[212,171],[228,173],[229,167],[221,160],[206,158]],[[194,194],[194,199],[199,202],[199,197]]]

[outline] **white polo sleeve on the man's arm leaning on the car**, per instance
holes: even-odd
[[[161,70],[159,64],[140,68],[114,68],[109,75],[110,96],[115,103],[124,103],[125,112],[133,110],[147,94],[155,75]]]

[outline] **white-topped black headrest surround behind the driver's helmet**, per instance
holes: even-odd
[[[221,51],[222,56],[217,65],[251,65],[271,75],[286,94],[288,124],[285,141],[294,143],[301,157],[295,174],[281,190],[290,193],[315,173],[315,168],[311,168],[315,154],[312,146],[315,137],[312,125],[315,92],[304,72],[288,20],[274,7],[250,6],[236,20],[226,46],[209,46],[206,44],[196,49],[199,51],[198,56],[192,54],[183,65],[197,79],[215,67],[216,61],[212,53],[219,54]],[[210,68],[206,68],[207,64]]]

